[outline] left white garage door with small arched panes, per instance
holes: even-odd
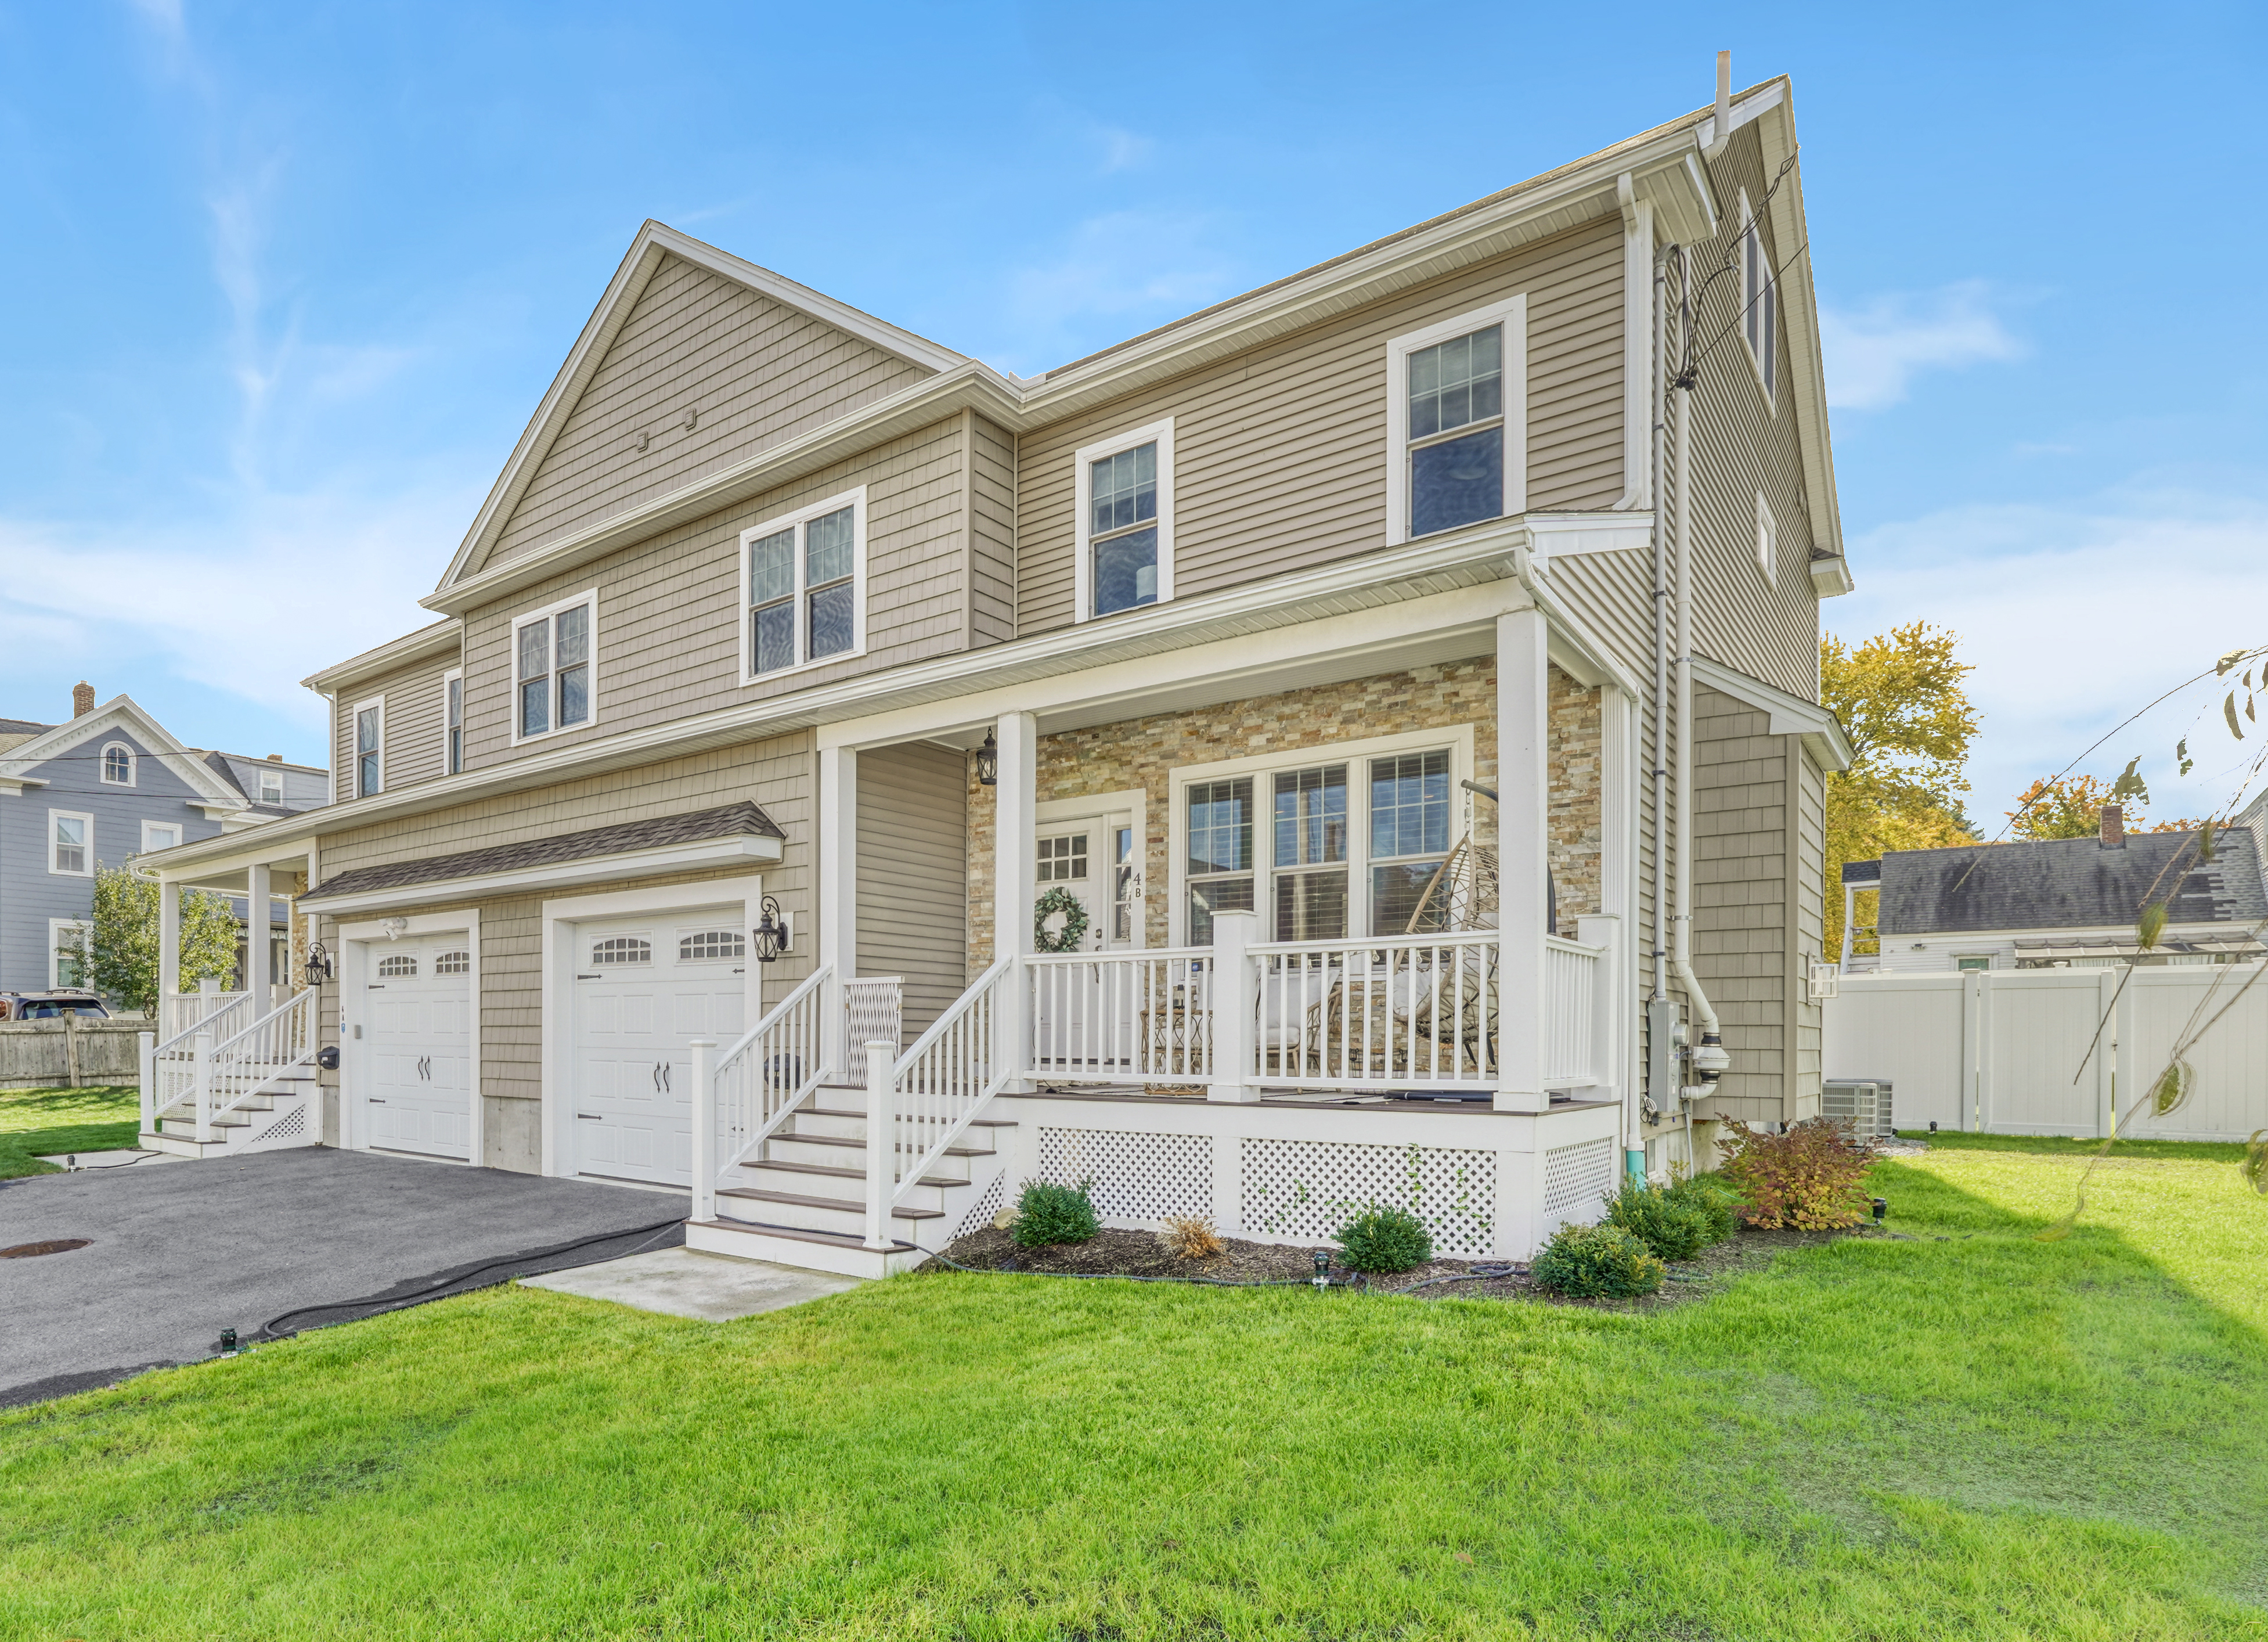
[[[472,1154],[472,946],[372,943],[363,1134],[390,1152]]]

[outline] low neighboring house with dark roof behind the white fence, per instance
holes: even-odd
[[[2195,832],[2127,832],[2105,805],[2096,837],[1892,850],[1844,866],[1848,973],[1973,968],[2109,968],[2118,964],[2239,964],[2263,955],[2261,882],[2268,801],[2214,830],[2200,860]],[[1857,898],[1878,891],[1880,955],[1855,953],[1869,925]],[[2166,903],[2166,932],[2148,953],[2134,925]]]

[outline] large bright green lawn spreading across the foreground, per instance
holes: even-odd
[[[2268,1200],[1946,1136],[1706,1302],[492,1290],[0,1417],[7,1637],[2268,1637]],[[5,1284],[5,1277],[0,1277]]]

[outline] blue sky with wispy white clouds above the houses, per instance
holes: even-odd
[[[1036,372],[1796,82],[1857,637],[1998,821],[2268,640],[2259,7],[0,5],[0,714],[320,757],[640,220]],[[2195,701],[2096,760],[2114,771]],[[2207,807],[2225,737],[2157,812]],[[2225,782],[2223,782],[2225,785]]]

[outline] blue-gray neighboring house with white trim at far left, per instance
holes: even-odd
[[[0,989],[77,984],[57,946],[93,909],[95,869],[243,832],[329,801],[324,769],[184,746],[132,696],[73,689],[66,723],[0,719]],[[238,921],[245,903],[236,903]],[[286,939],[281,905],[270,939]]]

